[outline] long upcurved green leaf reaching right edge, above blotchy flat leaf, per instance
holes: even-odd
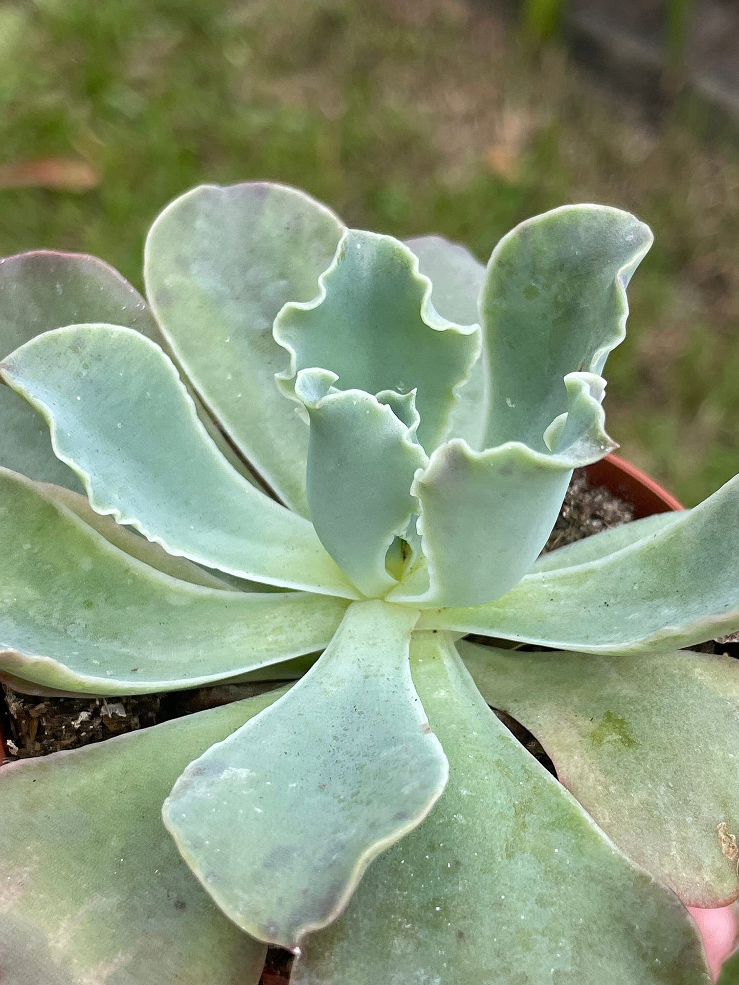
[[[739,628],[739,477],[648,540],[523,578],[474,609],[422,616],[419,628],[586,653],[664,652]]]

